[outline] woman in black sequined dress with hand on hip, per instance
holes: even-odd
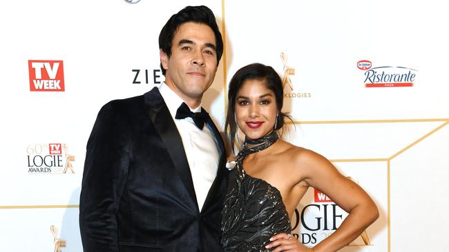
[[[284,125],[283,87],[272,67],[242,67],[229,83],[226,131],[245,134],[222,210],[225,251],[337,251],[356,239],[379,212],[370,196],[323,156],[278,137]],[[309,187],[349,216],[328,238],[307,248],[292,238],[290,218]]]

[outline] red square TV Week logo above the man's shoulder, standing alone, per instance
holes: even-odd
[[[62,61],[28,61],[30,91],[64,92]]]

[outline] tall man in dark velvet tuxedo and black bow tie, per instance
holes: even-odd
[[[226,154],[201,98],[222,36],[209,8],[189,6],[167,21],[159,44],[165,83],[104,105],[88,140],[85,252],[221,251]]]

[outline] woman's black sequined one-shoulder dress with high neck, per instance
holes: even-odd
[[[278,189],[245,173],[245,156],[236,161],[229,174],[222,210],[222,246],[226,252],[271,251],[265,248],[269,238],[291,233],[292,226]]]

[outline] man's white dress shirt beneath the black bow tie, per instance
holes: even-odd
[[[187,162],[189,162],[193,187],[195,187],[198,209],[201,211],[207,193],[217,174],[219,158],[218,142],[211,129],[209,129],[210,125],[207,123],[204,124],[201,130],[190,117],[184,119],[175,118],[178,107],[184,101],[170,87],[162,83],[159,87],[159,92],[162,98],[164,98],[164,102],[169,108],[171,117],[175,121],[175,125],[180,133]],[[190,108],[190,110],[191,112],[201,112],[201,104],[195,109]]]

